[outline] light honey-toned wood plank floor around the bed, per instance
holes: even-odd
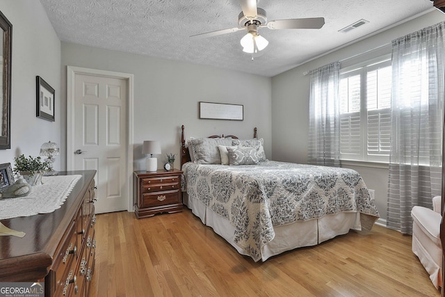
[[[375,225],[266,262],[238,254],[184,209],[97,215],[90,296],[440,296],[411,236]]]

